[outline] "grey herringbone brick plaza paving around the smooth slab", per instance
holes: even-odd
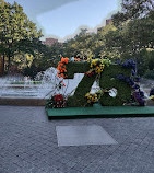
[[[58,147],[57,126],[102,126],[118,143]],[[0,173],[153,173],[154,117],[49,120],[0,106]]]

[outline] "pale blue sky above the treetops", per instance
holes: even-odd
[[[13,3],[14,0],[5,0]],[[15,0],[46,37],[64,41],[80,28],[95,32],[120,10],[120,0]]]

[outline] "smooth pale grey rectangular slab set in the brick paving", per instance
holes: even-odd
[[[57,126],[58,146],[117,145],[102,126]]]

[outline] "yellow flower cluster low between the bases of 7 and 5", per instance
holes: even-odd
[[[102,94],[103,94],[103,91],[99,90],[96,93],[86,93],[85,97],[87,99],[88,104],[94,104],[99,101]]]

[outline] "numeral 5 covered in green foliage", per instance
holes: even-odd
[[[111,97],[108,92],[105,92],[100,97],[100,104],[104,106],[120,106],[123,103],[129,103],[131,99],[131,88],[123,81],[117,79],[118,74],[125,77],[131,76],[131,69],[119,67],[118,65],[110,65],[102,72],[99,85],[103,89],[116,89],[117,95]]]

